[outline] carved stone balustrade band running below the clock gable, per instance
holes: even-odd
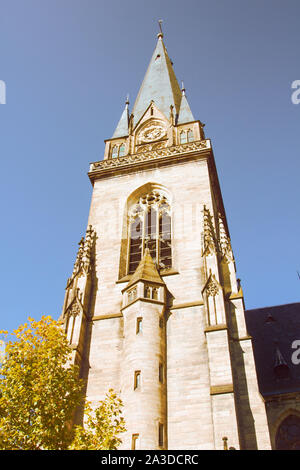
[[[124,157],[108,158],[91,163],[88,175],[90,180],[94,181],[95,179],[111,176],[111,174],[123,172],[124,170],[128,171],[130,168],[136,171],[140,166],[144,169],[145,166],[147,167],[149,164],[152,166],[153,163],[170,163],[170,161],[172,162],[172,160],[174,160],[174,157],[184,159],[184,157],[199,155],[199,152],[205,153],[205,151],[210,149],[211,143],[210,140],[207,139],[126,155]]]

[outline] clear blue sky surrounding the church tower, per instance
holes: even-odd
[[[0,0],[1,323],[58,318],[157,20],[212,139],[246,308],[299,301],[299,0]]]

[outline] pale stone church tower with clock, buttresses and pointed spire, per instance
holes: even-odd
[[[269,449],[211,141],[163,34],[104,159],[62,312],[93,403],[124,402],[122,449]]]

